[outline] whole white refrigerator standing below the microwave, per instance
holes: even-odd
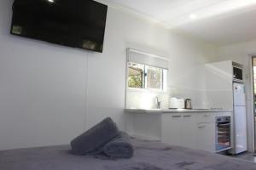
[[[247,150],[246,96],[243,83],[233,83],[234,98],[234,148],[232,154]]]

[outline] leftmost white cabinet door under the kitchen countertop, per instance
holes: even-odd
[[[182,119],[183,116],[181,114],[162,115],[162,142],[180,145]]]

